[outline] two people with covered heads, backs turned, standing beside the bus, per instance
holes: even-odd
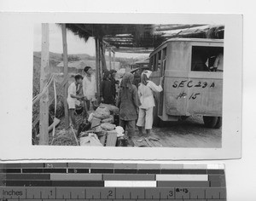
[[[127,130],[129,139],[135,134],[136,125],[139,135],[143,135],[143,127],[146,129],[147,135],[150,135],[153,125],[153,107],[155,106],[154,92],[163,90],[161,86],[163,78],[160,78],[160,85],[156,85],[149,80],[151,73],[143,71],[138,89],[132,84],[134,76],[130,72],[126,72],[121,81],[117,99],[119,124]]]

